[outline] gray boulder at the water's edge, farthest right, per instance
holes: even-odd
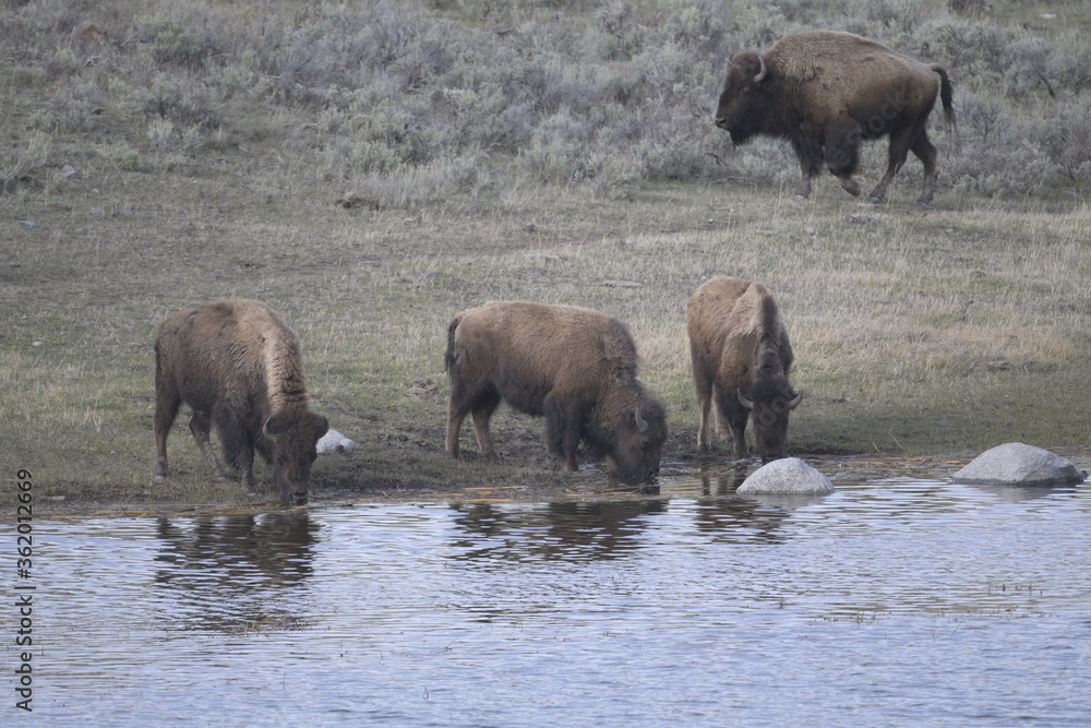
[[[1048,450],[1009,442],[986,450],[955,474],[955,482],[972,486],[1068,486],[1087,474]]]

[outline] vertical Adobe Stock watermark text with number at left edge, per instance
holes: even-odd
[[[29,713],[34,700],[34,481],[31,472],[15,474],[15,704]]]

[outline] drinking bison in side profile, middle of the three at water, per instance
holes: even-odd
[[[445,360],[448,457],[458,457],[458,430],[472,413],[481,452],[499,460],[489,418],[503,399],[546,417],[549,450],[565,470],[577,469],[584,440],[619,479],[659,473],[666,414],[637,381],[636,346],[616,319],[573,306],[488,303],[452,320]]]

